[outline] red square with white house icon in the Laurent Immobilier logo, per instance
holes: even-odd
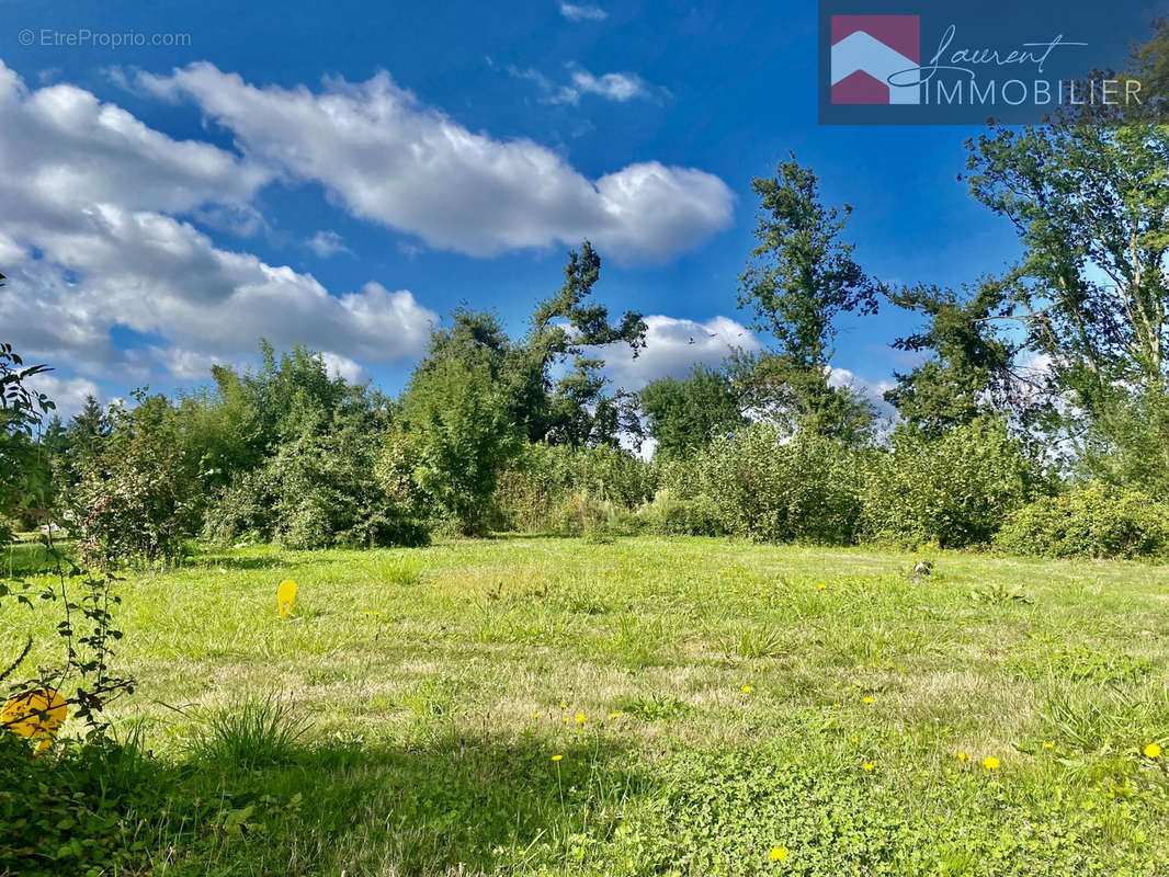
[[[833,104],[921,103],[919,84],[888,83],[921,64],[920,16],[833,15],[831,39]]]

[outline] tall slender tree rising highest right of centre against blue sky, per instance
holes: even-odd
[[[855,393],[829,382],[835,320],[876,313],[881,291],[842,240],[852,208],[825,207],[816,174],[794,156],[774,178],[755,178],[752,189],[760,199],[759,243],[739,278],[739,306],[754,310],[752,327],[776,346],[740,354],[738,381],[753,406],[793,428],[851,435],[872,410],[866,415]]]

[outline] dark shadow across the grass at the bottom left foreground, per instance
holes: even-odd
[[[560,741],[454,732],[407,747],[332,740],[253,767],[140,753],[112,774],[111,764],[74,771],[99,816],[76,821],[116,822],[120,836],[103,829],[89,838],[102,858],[75,864],[174,876],[477,875],[563,863],[574,837],[609,842],[623,809],[651,790],[624,746],[567,731]],[[48,866],[61,840],[46,840]],[[5,851],[0,838],[0,873]]]

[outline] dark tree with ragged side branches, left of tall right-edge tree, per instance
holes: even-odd
[[[1003,312],[1002,284],[987,281],[963,292],[960,297],[952,289],[919,285],[888,296],[927,319],[922,331],[893,346],[932,355],[912,372],[894,372],[897,386],[885,393],[885,401],[913,427],[936,431],[964,426],[1005,409],[1017,395],[1022,378],[1012,362],[1018,345],[996,337],[991,319]]]

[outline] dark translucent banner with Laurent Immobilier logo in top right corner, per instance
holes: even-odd
[[[1169,64],[1147,41],[1165,7],[821,0],[819,122],[1163,123]]]

